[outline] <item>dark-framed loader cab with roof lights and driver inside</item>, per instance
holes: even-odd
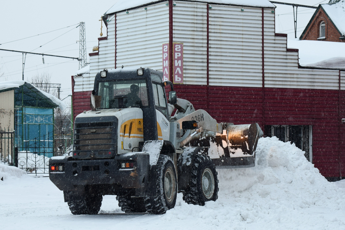
[[[144,141],[158,140],[157,116],[163,114],[169,120],[162,77],[163,72],[149,68],[103,70],[97,73],[93,87],[95,96],[100,96],[96,109],[140,108]]]

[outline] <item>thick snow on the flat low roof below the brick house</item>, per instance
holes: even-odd
[[[345,70],[344,42],[288,39],[287,47],[298,49],[300,66]]]

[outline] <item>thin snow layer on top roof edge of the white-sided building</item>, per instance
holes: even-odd
[[[239,6],[251,6],[251,7],[266,7],[266,8],[275,8],[275,6],[270,3],[268,0],[189,0],[191,2],[208,2],[208,3],[219,3],[219,4],[231,4]],[[118,0],[114,6],[112,6],[104,14],[111,14],[119,12],[122,10],[128,10],[148,4],[153,4],[159,1],[152,0]]]

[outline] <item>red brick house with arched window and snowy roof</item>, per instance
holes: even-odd
[[[299,40],[345,42],[345,1],[320,4]]]

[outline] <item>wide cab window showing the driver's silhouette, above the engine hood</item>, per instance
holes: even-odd
[[[99,109],[146,108],[149,106],[146,86],[146,79],[99,82]]]

